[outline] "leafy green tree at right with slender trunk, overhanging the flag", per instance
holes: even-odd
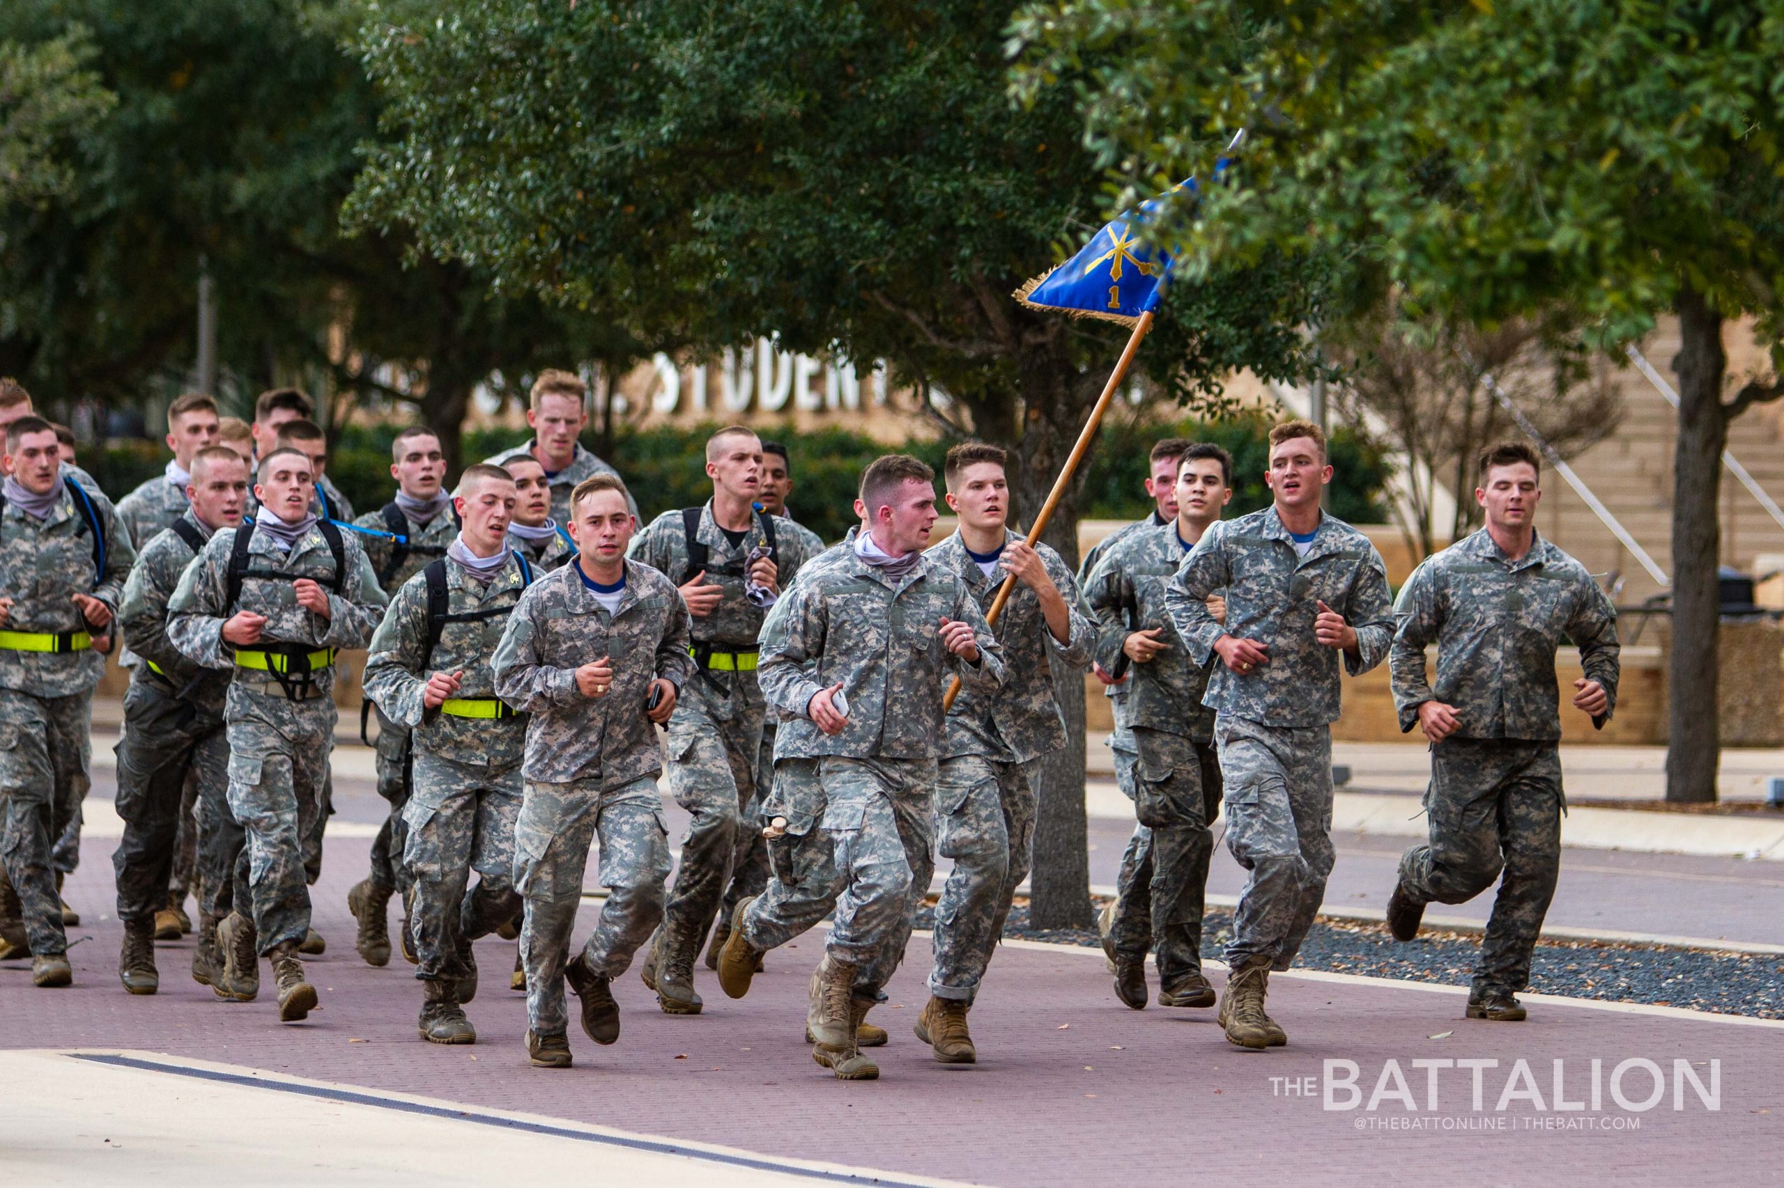
[[[1722,326],[1784,318],[1779,0],[1044,0],[1015,82],[1069,91],[1127,193],[1236,184],[1161,237],[1192,275],[1263,252],[1343,255],[1358,294],[1493,326],[1561,307],[1604,342],[1679,316],[1668,797],[1714,799]]]

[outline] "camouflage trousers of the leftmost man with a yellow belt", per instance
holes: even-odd
[[[68,951],[50,851],[87,794],[93,694],[0,689],[0,862],[23,903],[32,954]]]

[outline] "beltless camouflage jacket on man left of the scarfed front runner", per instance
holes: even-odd
[[[653,678],[676,689],[694,674],[687,653],[681,592],[649,565],[626,562],[619,610],[607,608],[582,582],[580,565],[535,580],[501,633],[492,662],[496,696],[523,714],[533,783],[599,780],[614,788],[662,771],[657,726],[644,717]],[[576,689],[576,669],[607,656],[614,685],[601,697]]]

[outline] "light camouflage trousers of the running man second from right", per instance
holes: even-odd
[[[1251,956],[1288,969],[1333,872],[1329,726],[1265,726],[1220,714],[1227,849],[1251,872],[1233,913],[1227,965]]]

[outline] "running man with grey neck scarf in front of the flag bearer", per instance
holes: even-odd
[[[935,870],[933,790],[947,728],[942,696],[960,674],[994,696],[1003,653],[967,583],[929,560],[935,471],[904,455],[862,474],[872,532],[808,562],[762,626],[756,678],[783,715],[765,815],[785,819],[767,892],[737,906],[719,985],[749,990],[756,956],[835,906],[812,974],[812,1056],[842,1079],[880,1068],[856,1047],[910,938],[915,899]],[[837,703],[842,694],[847,712]],[[828,847],[810,844],[817,829]],[[771,844],[771,860],[776,844]]]

